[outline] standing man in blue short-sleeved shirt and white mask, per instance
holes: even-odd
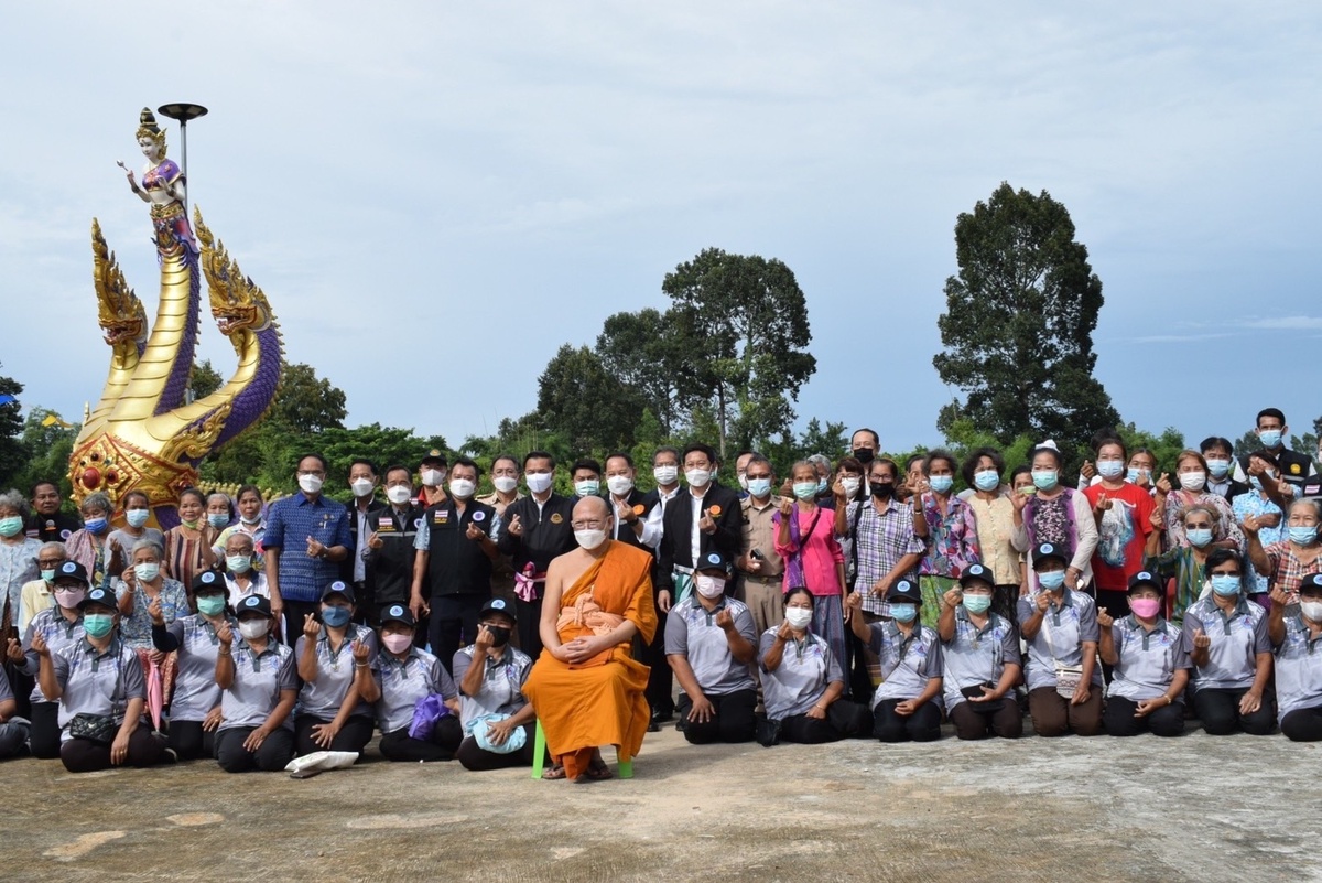
[[[290,646],[303,634],[304,617],[321,611],[321,591],[338,579],[353,543],[344,504],[321,496],[327,459],[304,455],[296,477],[299,493],[271,504],[262,538],[271,615],[279,620],[283,611]]]

